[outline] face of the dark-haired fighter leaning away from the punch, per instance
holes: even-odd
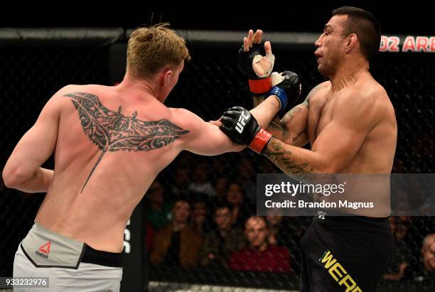
[[[334,74],[345,55],[347,39],[343,36],[346,15],[333,16],[323,28],[323,33],[316,40],[318,72],[329,77]]]

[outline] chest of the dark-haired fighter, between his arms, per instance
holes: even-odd
[[[337,97],[329,92],[317,94],[309,101],[308,138],[311,145],[333,118],[333,105]]]

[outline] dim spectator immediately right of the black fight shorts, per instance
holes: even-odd
[[[383,278],[398,281],[404,278],[405,271],[412,260],[412,249],[404,241],[409,228],[409,217],[390,217],[390,228],[394,237],[394,247],[392,260]]]

